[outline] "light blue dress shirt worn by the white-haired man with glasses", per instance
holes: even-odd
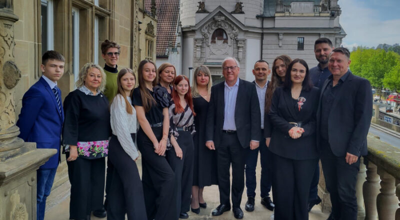
[[[239,77],[237,77],[236,83],[234,83],[233,86],[229,86],[225,81],[225,109],[222,127],[223,130],[236,130],[236,124],[234,123],[234,109],[236,106],[236,96],[238,88]]]

